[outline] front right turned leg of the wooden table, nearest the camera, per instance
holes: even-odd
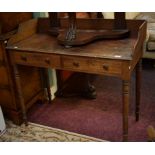
[[[123,80],[123,141],[128,141],[128,111],[130,82]]]

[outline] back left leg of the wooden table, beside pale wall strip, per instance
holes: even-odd
[[[49,103],[51,103],[52,99],[51,99],[51,88],[50,88],[50,79],[49,79],[48,69],[43,68],[43,72],[44,72],[44,77],[45,77],[45,79],[44,79],[45,80],[45,87],[47,89]]]

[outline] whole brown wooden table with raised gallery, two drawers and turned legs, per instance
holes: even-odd
[[[64,27],[66,20],[61,21]],[[97,28],[113,27],[113,20],[79,19],[77,23],[78,27],[83,29],[95,27],[92,26],[93,23]],[[48,19],[31,20],[20,25],[18,33],[8,43],[7,54],[13,70],[12,76],[15,79],[23,120],[27,123],[18,65],[114,76],[122,80],[123,141],[127,141],[130,78],[134,68],[136,68],[135,116],[136,121],[139,120],[140,60],[146,36],[146,22],[127,20],[127,27],[130,30],[129,38],[100,40],[67,49],[59,45],[55,37],[48,34],[47,30],[50,28]]]

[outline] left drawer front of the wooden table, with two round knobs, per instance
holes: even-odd
[[[18,64],[37,67],[60,67],[60,56],[58,55],[14,52],[14,60]]]

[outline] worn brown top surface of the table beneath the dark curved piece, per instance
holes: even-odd
[[[132,60],[136,38],[98,40],[88,45],[65,48],[49,34],[33,34],[24,40],[7,46],[16,51],[39,52],[70,56]]]

